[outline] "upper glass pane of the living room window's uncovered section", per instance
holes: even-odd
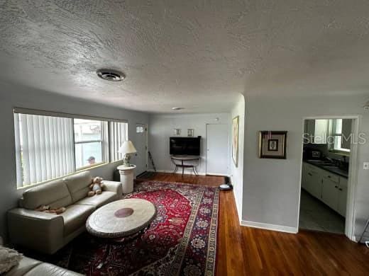
[[[75,119],[75,142],[101,140],[101,121]]]

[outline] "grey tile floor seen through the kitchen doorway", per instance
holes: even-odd
[[[304,189],[301,190],[300,205],[300,229],[338,234],[345,233],[345,218]]]

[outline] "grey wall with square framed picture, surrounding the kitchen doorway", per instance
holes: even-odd
[[[368,96],[246,98],[243,174],[243,220],[295,228],[302,161],[303,117],[361,115],[360,132],[368,137],[358,145],[356,228],[358,234],[369,215],[369,112],[362,108]],[[287,130],[287,159],[259,159],[258,131]]]

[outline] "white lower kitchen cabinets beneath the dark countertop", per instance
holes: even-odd
[[[304,162],[301,184],[304,190],[346,217],[347,178]]]

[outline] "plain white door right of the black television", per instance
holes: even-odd
[[[206,174],[228,173],[228,125],[206,125]]]

